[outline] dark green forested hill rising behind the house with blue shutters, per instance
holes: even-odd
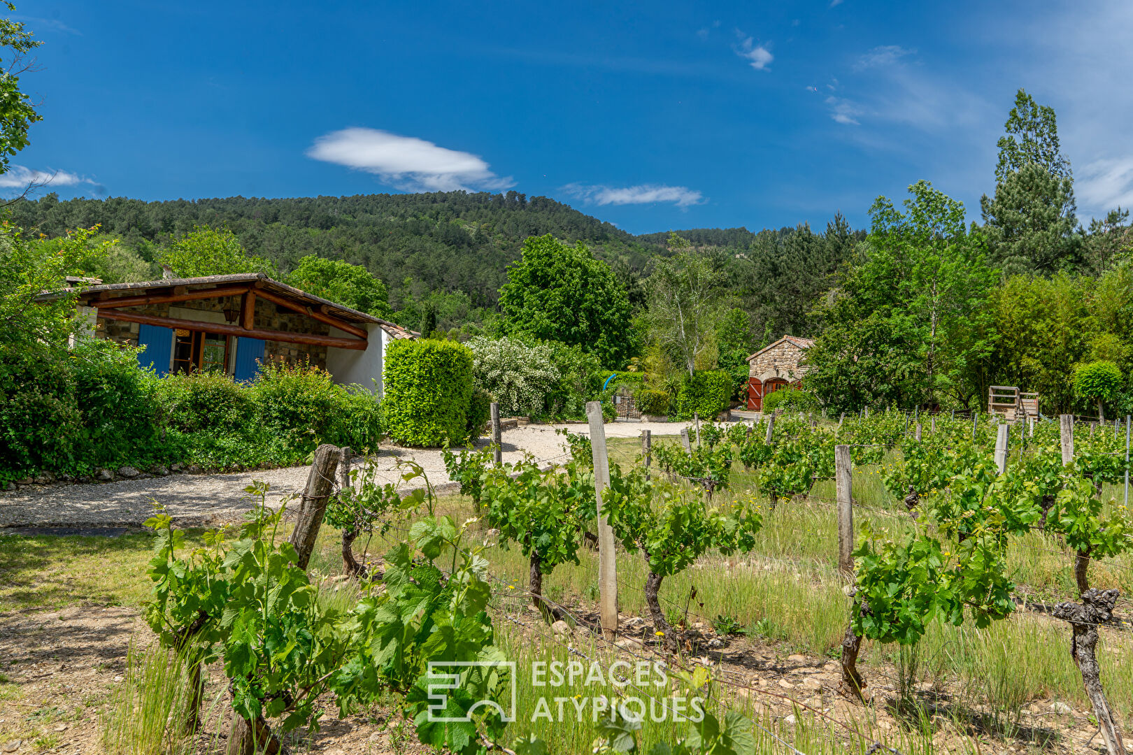
[[[554,199],[517,191],[172,201],[60,201],[51,194],[11,211],[19,226],[49,237],[101,224],[144,258],[194,225],[224,225],[284,273],[310,254],[364,265],[386,283],[393,302],[409,291],[462,291],[472,306],[492,307],[529,235],[583,241],[625,275],[662,250]]]

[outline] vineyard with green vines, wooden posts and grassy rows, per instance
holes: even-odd
[[[449,452],[458,498],[414,465],[402,486],[365,464],[335,477],[324,446],[322,491],[261,505],[239,532],[189,549],[168,516],[151,521],[147,618],[187,669],[179,730],[202,726],[216,661],[229,753],[282,752],[329,705],[378,704],[462,754],[1081,752],[1030,722],[1045,698],[1085,712],[1094,749],[1125,753],[1125,423],[930,422],[704,424],[640,453],[568,435],[552,464]],[[349,590],[308,574],[323,521]],[[616,575],[599,568],[607,555]],[[826,657],[837,683],[757,681],[746,643]],[[565,669],[550,692],[528,674],[547,664]],[[449,666],[462,670],[437,697]]]

